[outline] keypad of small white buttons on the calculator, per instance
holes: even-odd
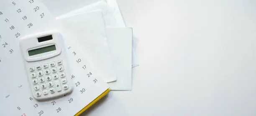
[[[58,93],[69,88],[62,61],[34,66],[29,68],[29,71],[37,97]]]

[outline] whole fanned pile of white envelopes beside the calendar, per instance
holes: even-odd
[[[53,1],[43,2],[110,89],[131,90],[133,29],[125,27],[116,1],[97,0],[67,13],[52,9]]]

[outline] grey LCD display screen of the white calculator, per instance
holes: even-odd
[[[28,50],[28,55],[32,56],[32,55],[46,53],[46,52],[50,52],[50,51],[54,51],[54,50],[56,50],[56,46],[55,45],[50,45],[50,46],[46,46],[46,47],[43,47],[43,48]]]

